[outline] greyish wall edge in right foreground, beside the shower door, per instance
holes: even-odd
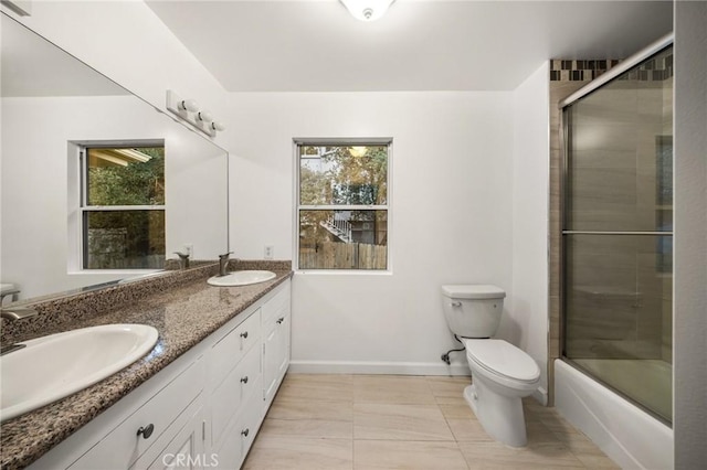
[[[675,2],[675,468],[707,461],[707,2]]]

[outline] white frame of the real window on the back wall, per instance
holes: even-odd
[[[386,146],[388,148],[386,171],[386,204],[300,204],[300,148],[302,147],[366,147]],[[391,241],[392,238],[392,169],[393,138],[294,138],[294,213],[293,213],[293,268],[298,274],[336,274],[336,275],[390,275],[392,274]],[[300,211],[384,211],[387,220],[386,269],[348,269],[348,268],[300,268],[299,267],[299,212]]]

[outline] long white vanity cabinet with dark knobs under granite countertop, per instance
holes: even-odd
[[[238,469],[289,364],[289,280],[30,468]]]

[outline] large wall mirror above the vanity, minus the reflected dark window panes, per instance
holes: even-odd
[[[19,291],[3,305],[150,275],[188,248],[192,259],[226,253],[226,151],[7,14],[1,20],[0,282]],[[140,142],[163,145],[160,266],[86,269],[82,151]],[[104,232],[113,239],[104,250],[130,242],[127,229]]]

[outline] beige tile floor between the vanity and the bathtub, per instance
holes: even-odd
[[[288,374],[244,469],[616,469],[552,408],[526,399],[528,446],[486,436],[467,377]]]

